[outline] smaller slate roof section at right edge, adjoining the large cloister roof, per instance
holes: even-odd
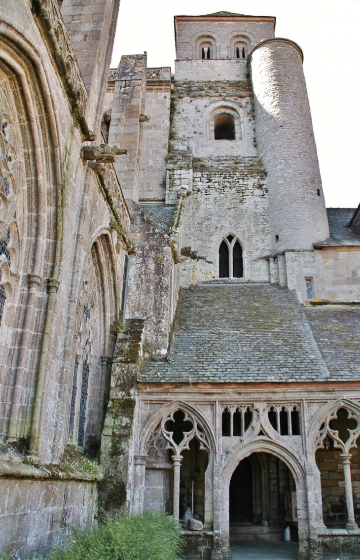
[[[333,379],[360,379],[360,307],[306,308],[305,315]]]

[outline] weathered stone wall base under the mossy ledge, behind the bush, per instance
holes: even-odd
[[[78,480],[1,481],[0,549],[20,558],[45,554],[63,542],[71,526],[91,525],[96,482]]]

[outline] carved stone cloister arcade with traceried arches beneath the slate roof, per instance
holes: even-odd
[[[244,534],[282,540],[290,526],[298,558],[306,558],[311,531],[357,530],[358,477],[351,480],[350,464],[352,454],[357,463],[360,411],[353,403],[328,403],[308,423],[303,405],[294,402],[213,407],[212,422],[209,412],[181,401],[148,417],[134,460],[133,511],[161,508],[181,519],[190,507],[225,555]],[[224,414],[232,416],[229,428]],[[329,463],[333,486],[324,485]]]

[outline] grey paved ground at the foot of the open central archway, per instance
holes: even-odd
[[[232,560],[296,560],[297,543],[242,543],[231,547]]]

